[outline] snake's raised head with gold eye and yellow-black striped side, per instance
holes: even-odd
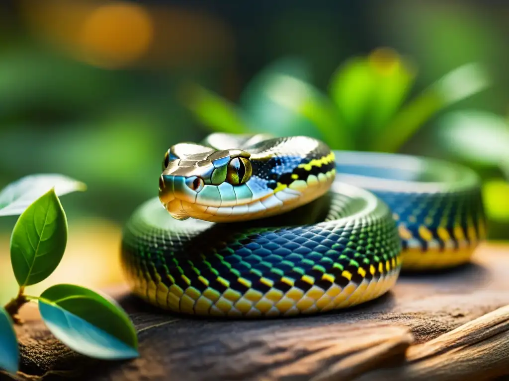
[[[322,196],[334,179],[334,155],[315,139],[241,140],[215,136],[209,146],[179,143],[168,149],[159,199],[174,218],[235,222],[268,217]],[[225,149],[235,141],[246,150]]]

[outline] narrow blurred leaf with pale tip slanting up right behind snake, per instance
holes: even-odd
[[[475,63],[449,72],[410,101],[389,122],[387,133],[380,135],[374,150],[395,152],[440,110],[486,89],[490,84],[484,69]]]

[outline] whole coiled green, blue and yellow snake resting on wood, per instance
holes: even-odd
[[[124,226],[122,269],[135,295],[185,315],[352,307],[400,272],[468,263],[486,236],[473,170],[306,136],[178,143],[158,182]]]

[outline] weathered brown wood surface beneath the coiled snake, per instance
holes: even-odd
[[[123,287],[111,293],[135,322],[139,359],[80,356],[27,307],[26,323],[17,328],[16,378],[394,381],[509,374],[508,246],[480,247],[472,264],[452,271],[403,275],[371,303],[293,319],[191,319],[152,309]]]

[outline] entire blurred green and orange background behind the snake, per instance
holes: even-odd
[[[446,158],[509,239],[509,3],[20,0],[0,6],[0,185],[62,173],[69,243],[34,287],[122,281],[164,151],[212,131]],[[16,292],[0,219],[0,302]]]

